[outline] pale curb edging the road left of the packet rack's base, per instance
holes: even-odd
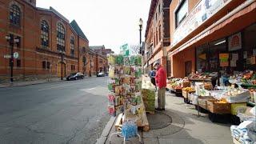
[[[114,126],[114,122],[117,117],[111,117],[110,121],[107,122],[104,130],[102,130],[102,135],[100,138],[97,139],[96,144],[104,144],[106,142],[106,139],[108,138],[110,131],[112,127]]]

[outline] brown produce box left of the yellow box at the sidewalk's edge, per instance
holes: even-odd
[[[218,100],[208,99],[206,109],[214,114],[230,114],[230,103],[214,103]]]

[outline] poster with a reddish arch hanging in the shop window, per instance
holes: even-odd
[[[231,35],[229,37],[229,51],[242,49],[241,33]]]

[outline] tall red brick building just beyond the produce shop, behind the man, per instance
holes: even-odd
[[[170,6],[171,0],[151,0],[146,23],[144,68],[146,73],[158,61],[170,71],[170,61],[166,49],[170,46]]]

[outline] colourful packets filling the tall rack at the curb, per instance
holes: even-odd
[[[111,116],[125,113],[134,122],[142,118],[142,57],[109,55],[108,82],[109,113]],[[128,120],[128,119],[127,119]]]

